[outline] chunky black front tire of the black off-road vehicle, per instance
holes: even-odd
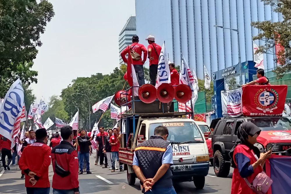
[[[213,156],[213,168],[217,177],[227,177],[230,171],[230,163],[226,163],[221,152],[217,150]]]

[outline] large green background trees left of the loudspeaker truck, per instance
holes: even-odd
[[[79,108],[79,118],[84,121],[84,128],[88,129],[89,103],[88,98],[84,96],[87,95],[90,99],[91,127],[93,127],[93,124],[95,123],[95,121],[99,120],[102,113],[100,113],[100,111],[97,111],[97,113],[92,114],[92,105],[104,99],[105,97],[114,95],[118,90],[121,90],[123,87],[129,87],[127,82],[125,84],[125,80],[123,79],[125,71],[126,65],[122,65],[121,70],[116,67],[111,74],[102,75],[101,73],[97,73],[95,75],[92,75],[91,77],[78,77],[77,79],[73,80],[73,84],[63,89],[61,94],[61,97],[64,100],[65,104],[65,111],[67,111],[72,117]],[[77,93],[84,95],[79,95]],[[103,119],[105,124],[112,123],[110,116],[110,122],[105,121],[107,119],[106,116],[104,116],[102,120]],[[109,127],[105,124],[104,127]]]

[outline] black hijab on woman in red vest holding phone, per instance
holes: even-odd
[[[229,156],[231,158],[231,166],[233,168],[236,168],[234,159],[233,159],[233,152],[235,151],[235,147],[239,144],[246,145],[250,148],[250,150],[253,150],[255,154],[258,154],[257,152],[259,150],[256,149],[254,145],[250,144],[247,141],[247,139],[249,138],[249,135],[254,136],[255,134],[260,134],[260,133],[261,133],[261,129],[257,127],[255,124],[253,124],[252,122],[244,122],[239,126],[237,130],[237,140],[235,142],[235,145],[229,152]]]

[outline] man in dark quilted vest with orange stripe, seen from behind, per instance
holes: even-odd
[[[135,148],[132,165],[143,193],[176,194],[170,169],[173,150],[170,142],[166,141],[168,135],[166,127],[158,126],[149,140]]]

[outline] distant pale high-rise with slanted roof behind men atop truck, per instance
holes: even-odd
[[[119,65],[123,62],[120,53],[127,47],[127,45],[132,44],[132,36],[136,35],[136,22],[135,16],[129,17],[126,24],[124,25],[123,29],[119,33]],[[127,55],[126,55],[127,57]]]

